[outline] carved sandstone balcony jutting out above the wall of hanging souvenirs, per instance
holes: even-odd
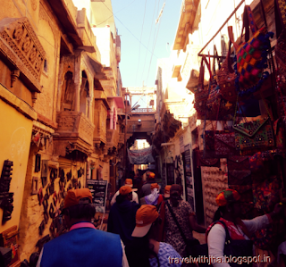
[[[66,150],[80,150],[85,154],[92,151],[95,126],[83,113],[64,111],[57,113],[55,153],[66,155]]]

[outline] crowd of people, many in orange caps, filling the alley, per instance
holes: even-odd
[[[186,263],[179,259],[189,257],[185,241],[194,240],[193,230],[206,232],[208,254],[223,259],[228,235],[233,240],[247,241],[251,233],[265,228],[282,213],[282,204],[276,204],[273,213],[240,220],[240,195],[226,189],[216,197],[217,218],[206,229],[198,225],[190,204],[182,200],[181,185],[167,186],[164,196],[153,182],[143,186],[142,191],[147,195],[139,198],[132,189],[132,180],[126,179],[115,194],[104,232],[91,223],[96,210],[89,189],[69,190],[63,216],[70,231],[46,243],[37,267],[184,266]],[[213,266],[233,265],[218,262]]]

